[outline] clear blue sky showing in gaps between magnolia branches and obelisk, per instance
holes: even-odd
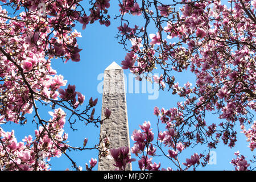
[[[115,4],[113,4],[115,2]],[[72,62],[71,60],[68,63],[64,64],[61,60],[52,60],[53,69],[57,70],[57,74],[63,75],[65,80],[68,80],[68,84],[76,85],[76,90],[85,95],[85,101],[88,102],[90,97],[98,98],[98,104],[96,106],[96,114],[101,115],[101,103],[102,103],[102,94],[98,93],[97,87],[100,84],[101,80],[98,80],[98,76],[104,73],[106,67],[111,64],[113,61],[121,65],[121,61],[126,55],[126,51],[123,49],[122,45],[118,44],[118,41],[115,37],[118,30],[117,27],[120,26],[119,20],[114,20],[114,15],[118,14],[118,4],[117,1],[113,1],[109,9],[109,14],[112,15],[111,25],[109,27],[101,26],[100,23],[96,22],[94,24],[88,24],[85,30],[81,30],[81,24],[78,23],[75,29],[82,34],[82,38],[78,38],[77,42],[79,48],[82,48],[81,61],[79,63]],[[138,16],[137,16],[138,17]],[[140,16],[137,19],[133,19],[141,23],[143,17]],[[151,27],[152,32],[155,34],[154,27]],[[129,71],[124,71],[125,75],[128,77]],[[180,74],[175,73],[176,81],[180,85],[185,84],[187,81],[194,82],[195,76],[189,72],[183,72]],[[147,83],[148,84],[148,83]],[[141,85],[141,83],[140,83]],[[141,86],[140,86],[141,88]],[[129,88],[128,88],[129,89]],[[170,109],[171,107],[176,106],[178,101],[183,101],[177,96],[173,96],[171,92],[163,92],[159,90],[159,97],[156,100],[148,100],[148,96],[152,94],[142,93],[140,90],[139,93],[126,94],[127,100],[127,111],[128,111],[128,120],[129,120],[129,133],[133,133],[133,130],[139,129],[144,121],[150,121],[153,129],[156,129],[157,118],[153,115],[154,106],[164,107],[165,109]],[[51,118],[48,114],[49,107],[41,107],[41,115],[45,119]],[[70,114],[70,113],[68,113]],[[28,118],[32,116],[28,115]],[[31,119],[32,121],[32,119]],[[217,115],[207,114],[207,121],[218,123],[220,122],[217,119]],[[18,140],[23,139],[27,135],[34,136],[34,130],[36,129],[35,123],[28,122],[27,125],[19,126],[14,123],[10,125],[1,125],[5,131],[10,131],[11,129],[15,130],[15,135]],[[82,146],[83,139],[88,138],[88,147],[93,147],[98,137],[100,135],[100,128],[96,128],[93,125],[84,126],[82,123],[77,122],[74,126],[79,131],[72,131],[66,123],[64,130],[65,133],[68,133],[69,144],[73,146]],[[208,165],[205,168],[198,168],[201,170],[233,170],[230,160],[235,158],[234,152],[239,150],[245,156],[248,156],[248,159],[251,159],[253,152],[247,147],[248,143],[243,134],[240,133],[240,127],[237,126],[238,131],[238,142],[236,147],[229,148],[220,143],[216,150],[216,162],[217,164]],[[156,134],[157,131],[153,130]],[[156,138],[156,136],[155,136]],[[133,140],[130,139],[131,147],[133,146]],[[194,152],[202,152],[206,149],[204,146],[197,146],[195,148],[187,148],[183,155],[179,157],[181,163],[185,162],[185,158],[189,157]],[[81,166],[85,169],[85,163],[89,163],[90,158],[98,159],[97,150],[90,151],[74,151],[71,154],[73,160],[77,162],[78,166]],[[132,155],[134,157],[134,155]],[[172,167],[172,164],[168,160],[163,160],[161,158],[154,158],[153,162],[162,163],[162,167]],[[61,158],[51,159],[52,170],[64,170],[66,168],[71,169],[71,162],[63,155]],[[133,163],[133,169],[138,170],[138,160]],[[97,166],[94,168],[97,170]]]

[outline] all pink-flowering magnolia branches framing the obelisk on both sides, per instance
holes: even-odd
[[[76,38],[81,34],[73,27],[81,23],[85,29],[97,21],[109,26],[110,0],[92,0],[88,7],[82,7],[77,0],[1,1],[0,123],[25,125],[26,115],[33,113],[32,122],[38,127],[22,142],[16,140],[14,131],[0,127],[0,169],[47,170],[49,159],[62,154],[71,160],[73,168],[80,170],[65,151],[96,149],[100,157],[110,156],[117,169],[125,170],[135,159],[130,158],[127,147],[109,148],[108,135],[100,136],[93,148],[86,148],[87,138],[83,146],[68,144],[68,134],[63,130],[66,117],[72,129],[78,121],[98,126],[111,117],[111,111],[105,110],[105,118],[94,117],[97,99],[85,101],[75,85],[62,88],[67,81],[51,68],[53,58],[80,61]],[[254,151],[256,1],[230,0],[226,5],[218,0],[118,3],[119,12],[112,16],[120,20],[117,38],[127,51],[122,68],[130,69],[138,80],[154,81],[160,89],[180,97],[176,107],[152,108],[158,133],[152,133],[150,122],[133,131],[131,139],[135,143],[131,152],[138,157],[139,168],[204,167],[209,154],[195,153],[185,156],[185,161],[180,161],[179,156],[197,144],[204,144],[209,151],[220,142],[234,147],[237,132],[241,131]],[[140,24],[133,22],[137,19]],[[151,77],[156,68],[162,75]],[[188,70],[195,74],[195,85],[179,85],[175,72]],[[52,119],[40,117],[38,105],[52,105]],[[221,122],[206,121],[208,113],[216,114]],[[236,125],[241,126],[240,131],[236,131]],[[170,161],[170,167],[156,163],[156,152]],[[236,170],[254,169],[251,164],[255,157],[249,162],[239,152],[234,156],[231,163]],[[91,159],[86,169],[91,170],[96,163]]]

